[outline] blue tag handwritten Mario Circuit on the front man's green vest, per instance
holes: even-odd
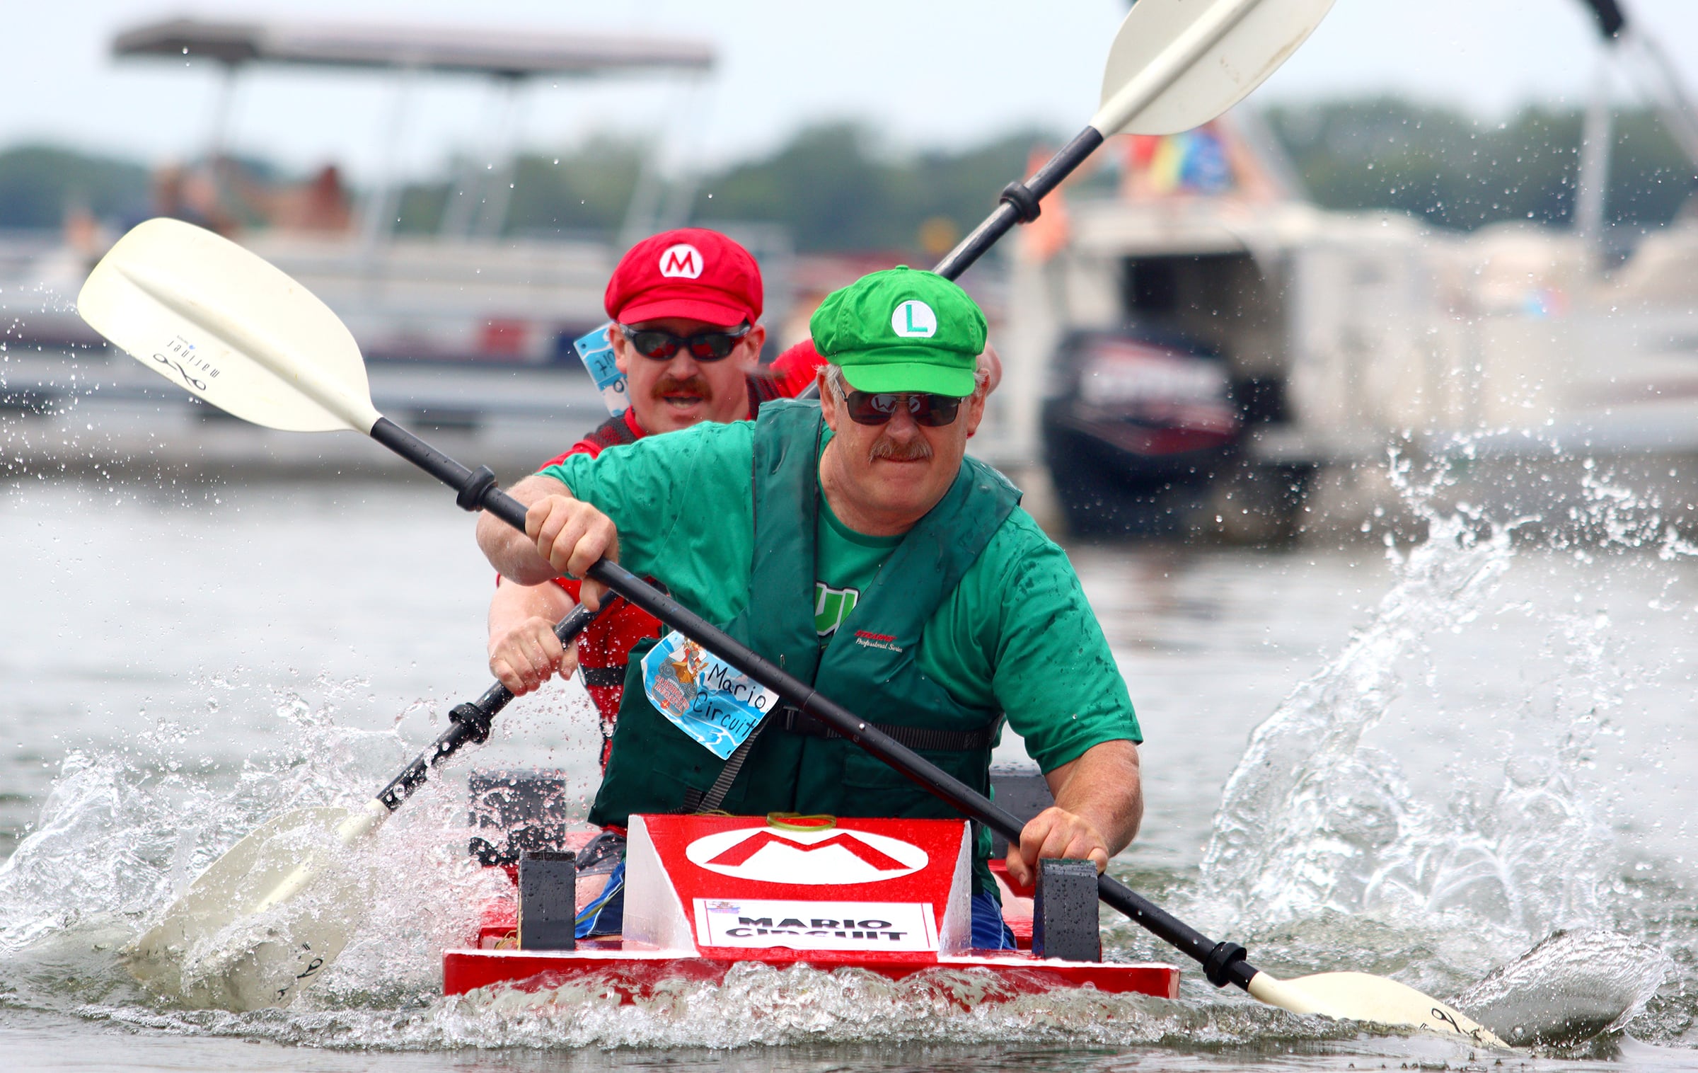
[[[644,657],[642,688],[661,715],[722,761],[778,706],[776,693],[678,630]]]

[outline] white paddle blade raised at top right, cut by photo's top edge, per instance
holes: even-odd
[[[1138,0],[1109,48],[1109,134],[1177,134],[1243,100],[1297,51],[1333,0]]]

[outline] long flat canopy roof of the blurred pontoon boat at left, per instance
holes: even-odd
[[[295,63],[528,78],[633,70],[706,71],[705,41],[462,25],[170,19],[124,31],[115,56],[205,56],[228,66]]]

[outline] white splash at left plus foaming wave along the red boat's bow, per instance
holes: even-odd
[[[679,983],[635,1005],[610,1002],[586,983],[540,995],[496,988],[445,998],[441,951],[475,932],[477,908],[506,885],[499,871],[467,857],[465,805],[453,778],[428,783],[380,837],[363,844],[363,868],[380,878],[365,920],[290,1008],[229,1014],[194,1008],[194,995],[188,1002],[161,998],[131,978],[122,949],[188,881],[272,815],[358,805],[379,784],[379,772],[409,756],[392,732],[338,727],[333,705],[285,694],[273,710],[299,737],[246,762],[234,778],[173,771],[171,756],[194,733],[171,722],[124,752],[76,750],[65,759],[41,823],[0,866],[7,985],[0,1007],[166,1034],[408,1051],[1010,1037],[1234,1044],[1336,1034],[1328,1025],[1280,1025],[1255,1007],[1189,1008],[1090,992],[1004,995],[976,973],[888,981],[854,969],[747,964],[722,986]],[[233,927],[273,924],[267,917]],[[217,973],[217,964],[199,961],[216,961],[228,939],[221,934],[209,949],[190,951],[185,976]],[[187,980],[183,992],[194,990],[195,980]]]

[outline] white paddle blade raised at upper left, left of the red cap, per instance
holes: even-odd
[[[76,312],[166,380],[285,431],[368,433],[365,362],[306,287],[236,243],[177,219],[131,229],[88,273]]]

